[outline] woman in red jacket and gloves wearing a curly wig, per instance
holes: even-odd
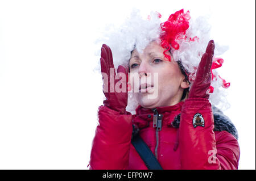
[[[148,22],[158,18],[160,14],[151,14]],[[151,37],[142,38],[143,42],[147,41],[144,47],[138,38],[132,41],[129,58],[123,58],[129,69],[119,65],[118,78],[115,78],[112,50],[102,45],[101,72],[106,100],[98,110],[99,125],[90,169],[148,169],[131,144],[132,137],[138,136],[163,169],[238,169],[240,148],[236,128],[215,107],[213,114],[214,101],[209,102],[210,94],[219,92],[216,82],[221,81],[222,87],[229,86],[213,70],[223,61],[213,57],[213,40],[209,41],[205,53],[197,48],[196,57],[184,58],[184,52],[189,52],[187,44],[196,47],[203,39],[203,36],[191,36],[189,20],[189,12],[177,11],[167,22],[160,23],[159,32],[154,31],[152,35],[154,28],[147,29],[151,33],[144,34]],[[195,66],[191,60],[198,56],[200,64]],[[126,82],[129,82],[127,86]],[[125,90],[120,91],[120,86]],[[138,105],[134,115],[126,111],[130,88],[129,94]]]

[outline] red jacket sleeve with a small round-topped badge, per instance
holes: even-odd
[[[197,113],[203,116],[204,126],[193,126]],[[216,142],[212,108],[207,99],[185,100],[180,119],[182,169],[237,169],[238,142],[228,132],[221,132]]]

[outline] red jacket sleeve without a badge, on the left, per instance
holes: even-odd
[[[121,115],[106,106],[98,110],[98,126],[90,153],[90,169],[127,169],[132,115]]]

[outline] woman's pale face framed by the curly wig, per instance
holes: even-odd
[[[164,50],[152,41],[141,54],[136,49],[131,54],[129,81],[144,108],[175,105],[180,102],[183,90],[189,87],[177,62],[164,59]],[[133,79],[136,75],[137,81]]]

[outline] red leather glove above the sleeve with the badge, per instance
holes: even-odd
[[[214,41],[210,40],[197,68],[195,82],[189,91],[188,98],[209,99],[210,95],[207,93],[207,90],[209,89],[212,80],[210,68],[212,66],[214,47]]]

